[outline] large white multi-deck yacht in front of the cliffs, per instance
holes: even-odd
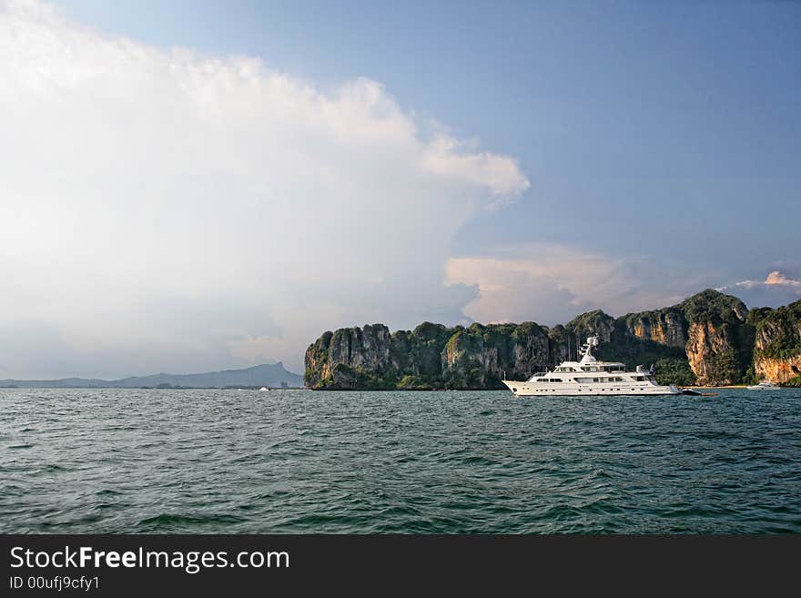
[[[581,353],[581,361],[563,361],[551,371],[534,374],[529,380],[502,380],[518,397],[569,396],[595,397],[606,395],[681,394],[673,384],[660,386],[654,379],[653,369],[637,366],[626,371],[624,363],[599,361],[593,357],[598,337],[589,337]]]

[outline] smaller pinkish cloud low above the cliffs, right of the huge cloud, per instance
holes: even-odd
[[[446,279],[474,285],[464,309],[479,321],[565,323],[583,311],[620,315],[672,305],[699,288],[694,277],[659,280],[664,269],[581,248],[529,243],[492,251],[492,257],[450,258]]]

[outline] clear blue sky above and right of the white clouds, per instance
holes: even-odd
[[[319,86],[368,76],[517,157],[532,188],[464,227],[457,254],[571,242],[693,260],[711,285],[801,254],[796,218],[770,218],[801,202],[796,3],[57,4],[159,46],[261,56]]]

